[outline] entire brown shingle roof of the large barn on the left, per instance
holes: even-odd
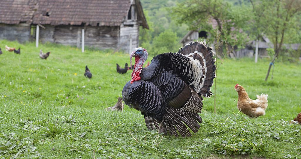
[[[50,25],[119,26],[124,21],[131,0],[1,0],[0,23]],[[142,10],[135,0],[137,10]],[[4,5],[3,5],[4,4]],[[142,12],[143,14],[143,12]],[[144,15],[138,21],[148,28]]]

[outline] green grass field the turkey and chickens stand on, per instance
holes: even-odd
[[[21,55],[5,45],[20,46]],[[273,80],[265,82],[267,59],[225,59],[217,72],[217,114],[214,98],[206,98],[199,132],[177,138],[148,132],[141,113],[128,106],[105,110],[130,80],[131,71],[116,73],[116,63],[129,63],[127,54],[5,40],[0,47],[0,158],[301,156],[301,126],[287,122],[301,111],[300,64],[276,62]],[[39,58],[39,49],[51,51],[47,60]],[[85,65],[91,80],[83,75]],[[236,83],[253,99],[269,95],[265,116],[239,113]]]

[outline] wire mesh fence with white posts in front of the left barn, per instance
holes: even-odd
[[[51,47],[71,46],[92,50],[112,49],[113,52],[131,52],[132,36],[117,33],[101,34],[93,28],[60,26],[54,27],[39,25],[5,25],[0,24],[0,40],[18,41],[19,43],[32,43],[32,45],[48,45]]]

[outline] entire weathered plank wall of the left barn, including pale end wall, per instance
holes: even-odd
[[[139,45],[139,25],[136,22],[132,24],[120,27],[44,25],[45,29],[43,27],[39,29],[39,42],[80,47],[82,29],[85,29],[85,46],[132,52]],[[28,24],[0,24],[0,39],[18,40],[19,42],[34,41],[35,29],[33,35],[30,33],[31,26]]]

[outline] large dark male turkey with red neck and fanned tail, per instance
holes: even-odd
[[[122,91],[124,103],[141,111],[149,130],[191,136],[189,129],[196,133],[202,122],[201,96],[212,95],[216,60],[211,51],[204,42],[191,42],[177,53],[155,56],[142,68],[148,54],[136,48],[130,55],[131,65],[135,57],[132,80]]]

